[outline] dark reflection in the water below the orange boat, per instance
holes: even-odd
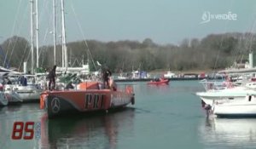
[[[132,130],[133,117],[134,109],[130,107],[92,117],[42,117],[41,145],[42,148],[117,148],[119,132]]]

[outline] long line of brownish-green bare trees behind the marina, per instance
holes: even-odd
[[[89,60],[90,70],[95,71],[95,61],[98,61],[113,72],[224,69],[234,62],[244,62],[248,53],[254,50],[256,36],[250,32],[210,34],[201,39],[183,39],[179,45],[162,45],[150,38],[143,42],[83,40],[67,43],[69,66],[81,66]],[[54,65],[53,51],[53,46],[39,48],[40,67]],[[35,61],[36,52],[34,54]],[[16,67],[22,71],[24,61],[31,68],[31,57],[30,43],[24,37],[10,37],[1,44],[1,66]],[[56,64],[61,66],[61,44],[56,46]]]

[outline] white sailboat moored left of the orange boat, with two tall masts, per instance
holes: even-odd
[[[33,14],[34,14],[34,1],[31,3],[31,53],[32,53],[32,74],[34,68],[34,57],[33,57]],[[37,66],[38,66],[38,0],[36,0],[36,13],[37,14]],[[24,70],[26,73],[26,62],[24,65]],[[7,96],[9,102],[22,102],[22,101],[38,101],[40,94],[43,89],[40,88],[40,85],[35,83],[36,76],[34,75],[25,75],[22,73],[9,73],[9,77],[15,77],[14,81],[9,84],[4,84],[3,92]],[[21,80],[22,79],[22,80]]]

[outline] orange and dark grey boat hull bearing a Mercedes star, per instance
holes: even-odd
[[[55,117],[72,112],[97,112],[134,103],[134,94],[110,89],[50,91],[41,94],[40,107]]]

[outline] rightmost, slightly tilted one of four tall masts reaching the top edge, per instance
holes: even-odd
[[[64,0],[61,0],[61,18],[62,18],[62,66],[67,71],[67,45],[66,45],[66,29],[65,29],[65,17],[64,17]]]

